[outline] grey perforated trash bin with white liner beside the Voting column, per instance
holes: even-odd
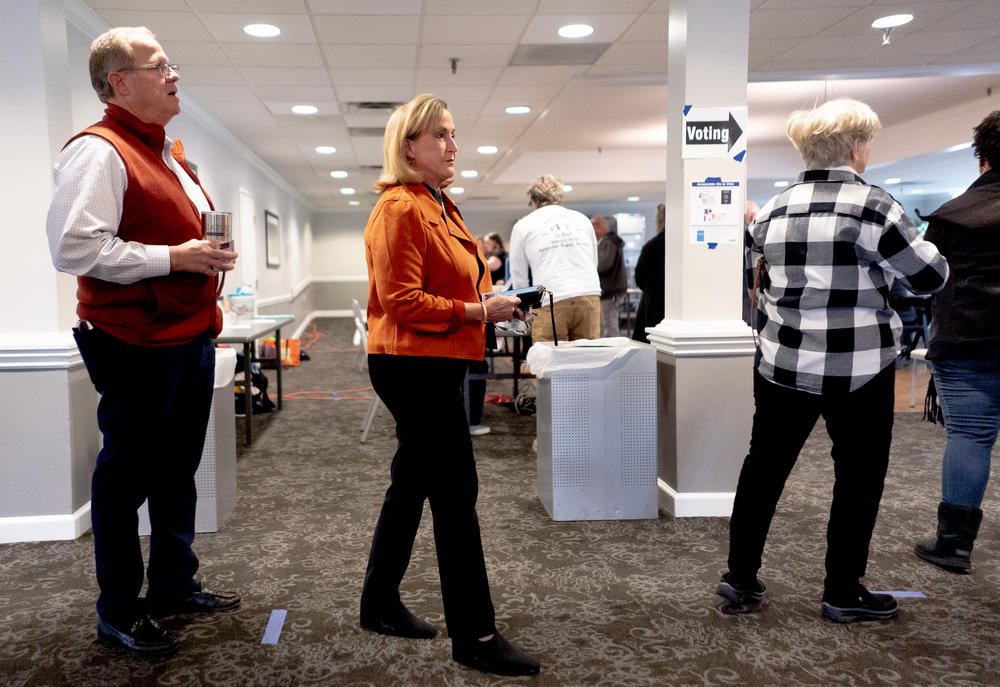
[[[553,520],[656,518],[656,349],[538,343],[538,496]]]

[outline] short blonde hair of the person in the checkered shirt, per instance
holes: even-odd
[[[881,127],[868,105],[838,98],[812,110],[796,110],[788,115],[785,131],[806,169],[828,169],[850,164],[855,141],[868,143]]]

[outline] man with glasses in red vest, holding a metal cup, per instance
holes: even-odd
[[[180,112],[177,65],[149,29],[90,48],[104,118],[55,163],[46,230],[56,268],[77,276],[73,334],[101,395],[104,445],[91,484],[97,635],[137,654],[177,648],[155,620],[228,610],[239,596],[195,579],[194,474],[212,403],[219,272],[236,253],[202,239],[208,194],[164,126]],[[149,566],[137,509],[149,501]],[[149,585],[139,598],[143,577]]]

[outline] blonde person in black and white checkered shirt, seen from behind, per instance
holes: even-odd
[[[896,342],[889,284],[940,289],[948,265],[902,206],[858,174],[878,115],[856,100],[793,112],[787,133],[806,164],[747,228],[760,274],[754,325],[756,410],[730,521],[729,571],[717,593],[759,603],[757,578],[785,480],[822,416],[836,479],[827,526],[822,615],[834,622],[893,618],[888,594],[860,582],[868,562],[892,439]]]

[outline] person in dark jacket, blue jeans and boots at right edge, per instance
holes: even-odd
[[[925,238],[951,266],[931,306],[927,348],[948,442],[937,536],[918,541],[916,553],[960,573],[972,568],[1000,427],[1000,110],[974,132],[979,178],[924,218],[930,223]]]

